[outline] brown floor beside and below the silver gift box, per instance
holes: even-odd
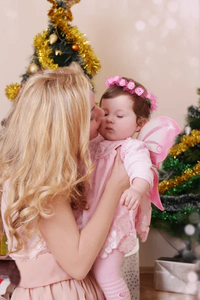
[[[196,300],[196,296],[154,290],[153,273],[140,273],[140,300]]]

